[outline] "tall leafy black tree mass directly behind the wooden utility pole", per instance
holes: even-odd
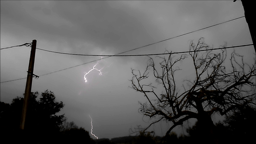
[[[56,102],[53,92],[48,90],[41,94],[37,100],[39,93],[31,92],[29,99],[28,112],[25,123],[25,131],[20,132],[20,118],[23,105],[23,97],[13,99],[11,105],[2,104],[5,109],[0,113],[1,132],[4,132],[6,137],[10,137],[10,141],[25,140],[26,143],[49,143],[49,139],[53,142],[58,137],[60,126],[64,121],[64,114],[57,115],[56,113],[64,107],[63,102]],[[29,135],[29,138],[24,138],[22,134]],[[20,139],[11,139],[13,135],[20,135]],[[14,143],[14,142],[10,142]]]

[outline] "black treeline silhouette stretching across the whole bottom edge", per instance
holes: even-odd
[[[23,97],[16,97],[11,104],[0,103],[0,143],[74,143],[74,144],[169,144],[169,143],[213,143],[206,139],[204,125],[196,122],[187,128],[187,135],[171,132],[167,137],[153,136],[152,133],[140,133],[138,136],[127,136],[93,140],[88,131],[68,122],[63,115],[56,113],[64,107],[63,102],[55,101],[53,92],[31,93],[25,130],[19,129],[23,105]],[[256,134],[256,110],[243,107],[226,115],[223,122],[218,122],[218,143],[250,143]]]

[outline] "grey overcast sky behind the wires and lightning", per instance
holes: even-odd
[[[241,1],[0,1],[1,48],[31,43],[37,48],[77,54],[117,54],[180,34],[244,16]],[[240,18],[124,54],[153,54],[189,50],[189,40],[205,38],[214,48],[252,44],[245,18]],[[1,82],[27,77],[30,47],[1,50]],[[253,60],[253,46],[236,48]],[[228,51],[232,52],[232,50]],[[229,53],[229,54],[230,54]],[[36,49],[34,74],[80,65],[101,57],[50,53]],[[97,64],[98,63],[98,64]],[[99,71],[93,68],[101,69]],[[143,94],[129,88],[131,68],[145,69],[146,57],[111,57],[33,79],[32,92],[49,90],[63,101],[68,121],[99,138],[129,135],[129,128],[147,126],[138,113]],[[190,61],[177,80],[191,77]],[[154,80],[154,79],[152,79]],[[1,101],[23,96],[26,79],[1,83]],[[214,122],[218,119],[213,118]],[[170,124],[154,126],[162,136]],[[177,130],[180,131],[180,130]]]

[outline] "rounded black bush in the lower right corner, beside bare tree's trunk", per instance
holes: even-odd
[[[256,109],[242,107],[226,115],[217,128],[223,136],[222,141],[230,143],[251,143],[256,135]]]

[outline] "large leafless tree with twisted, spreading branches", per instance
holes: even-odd
[[[150,119],[155,118],[155,121],[143,131],[145,132],[151,125],[161,120],[166,120],[172,123],[166,132],[166,137],[174,127],[182,125],[190,118],[196,118],[201,125],[204,125],[202,130],[206,133],[205,137],[214,143],[219,143],[211,115],[214,113],[226,115],[238,107],[256,105],[256,61],[254,59],[253,64],[248,65],[244,63],[243,56],[234,51],[231,53],[230,66],[225,66],[226,50],[222,49],[221,53],[213,53],[204,43],[203,38],[200,38],[197,44],[191,41],[189,50],[189,54],[182,54],[178,59],[174,59],[173,54],[170,54],[168,58],[158,57],[162,59],[159,69],[156,68],[157,65],[151,57],[149,57],[144,73],[132,69],[132,88],[143,93],[147,98],[147,102],[140,102],[139,110],[144,116]],[[182,93],[177,87],[175,73],[181,70],[177,67],[178,62],[189,57],[192,58],[189,64],[194,67],[195,78],[183,80],[187,82],[187,85],[182,84]],[[164,88],[161,94],[156,93],[156,87],[152,84],[144,82],[149,78],[150,70],[156,82]],[[152,96],[155,98],[152,99]]]

